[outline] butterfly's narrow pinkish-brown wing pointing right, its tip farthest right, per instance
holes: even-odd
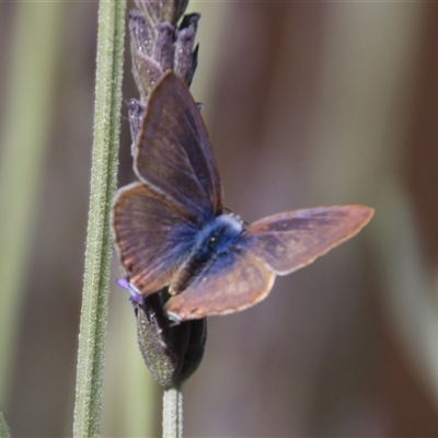
[[[346,205],[268,216],[247,228],[242,246],[286,275],[358,233],[372,215],[372,208]]]

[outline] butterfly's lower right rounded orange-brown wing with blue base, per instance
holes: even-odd
[[[244,310],[263,300],[275,274],[260,258],[237,247],[219,254],[194,281],[165,304],[176,321]]]

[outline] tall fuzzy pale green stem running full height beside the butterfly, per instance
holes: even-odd
[[[99,10],[94,143],[79,334],[74,437],[94,437],[100,434],[111,258],[110,216],[116,187],[125,7],[124,0],[101,0]]]

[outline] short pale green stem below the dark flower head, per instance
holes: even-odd
[[[164,390],[163,438],[183,437],[183,393],[181,387]]]

